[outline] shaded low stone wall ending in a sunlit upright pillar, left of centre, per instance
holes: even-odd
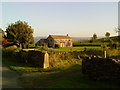
[[[46,51],[20,51],[19,61],[24,63],[29,63],[41,68],[49,67],[49,55]]]

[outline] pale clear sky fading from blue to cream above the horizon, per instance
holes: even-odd
[[[26,21],[34,37],[66,35],[92,37],[94,33],[117,35],[117,2],[2,2],[2,25]]]

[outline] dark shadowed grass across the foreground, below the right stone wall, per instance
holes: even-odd
[[[42,76],[21,76],[24,88],[118,88],[116,81],[93,81],[81,72],[80,65],[71,65],[66,70]]]

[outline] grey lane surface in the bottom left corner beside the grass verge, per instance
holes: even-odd
[[[22,88],[18,85],[18,77],[19,75],[15,71],[10,70],[4,64],[2,65],[2,88]]]

